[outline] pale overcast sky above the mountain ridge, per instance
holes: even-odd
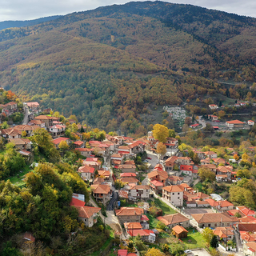
[[[143,0],[142,0],[143,1]],[[0,21],[29,20],[74,11],[92,10],[98,6],[123,4],[126,0],[0,0]],[[229,13],[256,17],[255,0],[176,0]]]

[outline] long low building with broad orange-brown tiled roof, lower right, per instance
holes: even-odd
[[[192,214],[197,226],[200,228],[218,226],[230,226],[234,224],[234,219],[227,214],[222,213],[206,213],[206,214]]]

